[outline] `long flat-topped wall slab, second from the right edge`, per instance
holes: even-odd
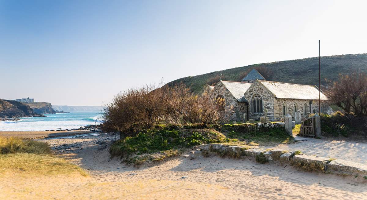
[[[306,171],[323,171],[327,167],[328,160],[329,158],[300,154],[291,158],[291,164],[299,166]]]

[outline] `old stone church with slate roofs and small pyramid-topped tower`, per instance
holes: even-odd
[[[301,112],[302,118],[308,113],[319,113],[319,88],[266,81],[255,69],[241,82],[219,80],[215,86],[207,86],[204,92],[210,94],[212,101],[221,99],[225,102],[219,109],[230,121],[243,121],[244,114],[247,121],[259,121],[265,111],[270,121],[280,121],[287,114],[295,120],[297,111]],[[322,91],[320,100],[321,112],[326,113],[330,105]]]

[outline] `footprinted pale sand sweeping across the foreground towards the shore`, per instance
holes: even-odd
[[[0,199],[366,199],[352,178],[218,156],[134,168],[111,159],[114,135],[41,139],[88,171],[81,177],[0,177]]]

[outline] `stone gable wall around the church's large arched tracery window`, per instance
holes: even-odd
[[[268,111],[267,116],[270,121],[274,121],[274,95],[269,92],[268,89],[265,88],[264,85],[262,85],[259,81],[255,81],[250,88],[245,93],[245,98],[248,101],[248,116],[249,119],[254,119],[257,121],[260,121],[260,117],[264,117],[265,113],[254,113],[252,112],[252,101],[251,97],[254,94],[259,94],[262,97],[262,104],[264,108]]]

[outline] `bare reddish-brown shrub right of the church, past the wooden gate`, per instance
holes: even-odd
[[[339,80],[328,87],[326,96],[347,114],[367,115],[367,75],[357,71],[339,74]]]

